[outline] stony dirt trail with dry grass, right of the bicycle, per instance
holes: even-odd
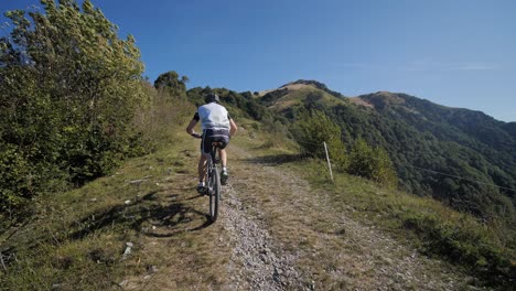
[[[219,218],[233,249],[227,289],[467,289],[444,263],[333,211],[292,171],[236,146],[230,154]]]

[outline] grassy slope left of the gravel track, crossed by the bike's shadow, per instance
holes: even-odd
[[[207,200],[194,191],[197,147],[176,141],[111,176],[42,197],[26,225],[0,235],[0,290],[223,284],[225,270],[212,266],[230,251],[223,229],[207,223]]]

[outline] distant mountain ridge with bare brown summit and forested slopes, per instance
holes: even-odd
[[[287,118],[301,108],[320,109],[341,126],[347,144],[362,137],[384,147],[409,192],[477,216],[514,218],[516,122],[407,94],[348,98],[316,80],[264,91],[257,101]]]

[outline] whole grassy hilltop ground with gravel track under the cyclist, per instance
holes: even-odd
[[[473,278],[337,211],[289,154],[256,143],[232,141],[215,224],[195,192],[194,140],[58,194],[2,235],[0,290],[474,290]]]

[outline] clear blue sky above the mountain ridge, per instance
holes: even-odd
[[[3,12],[35,0],[6,1]],[[516,1],[93,0],[132,34],[146,76],[237,91],[316,79],[516,121]]]

